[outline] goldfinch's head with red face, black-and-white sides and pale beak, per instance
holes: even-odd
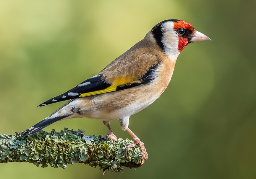
[[[168,19],[155,25],[150,31],[158,46],[170,58],[179,53],[191,42],[211,40],[198,32],[191,24],[177,19]]]

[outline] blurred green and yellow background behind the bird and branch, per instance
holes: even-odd
[[[256,178],[256,1],[0,1],[0,133],[14,134],[55,111],[38,104],[95,75],[158,22],[182,19],[212,41],[188,45],[171,83],[130,118],[145,165],[124,173],[87,165],[0,164],[1,178]],[[117,137],[129,134],[111,123]],[[106,135],[99,120],[45,128]],[[159,148],[161,145],[161,148]]]

